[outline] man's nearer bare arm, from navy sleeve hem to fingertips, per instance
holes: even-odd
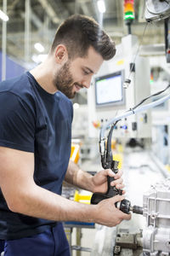
[[[88,206],[37,186],[33,179],[32,153],[0,147],[0,162],[0,187],[9,209],[13,212],[49,220],[81,220],[109,226],[120,223],[124,218],[130,218],[115,207],[115,201],[122,200],[122,196],[111,199],[112,201],[103,201],[96,206]]]

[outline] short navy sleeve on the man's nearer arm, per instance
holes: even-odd
[[[35,111],[10,91],[0,93],[0,146],[34,152]]]

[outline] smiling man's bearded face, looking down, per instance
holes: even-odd
[[[66,61],[54,74],[54,85],[65,96],[73,98],[83,87],[89,88],[92,76],[99,71],[103,58],[92,47],[88,55],[73,61]]]

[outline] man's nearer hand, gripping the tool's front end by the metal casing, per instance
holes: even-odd
[[[100,201],[96,207],[96,219],[95,222],[108,227],[116,226],[120,224],[123,219],[129,220],[131,214],[126,214],[118,210],[115,206],[117,201],[122,201],[124,199],[123,195],[116,195],[109,199]]]

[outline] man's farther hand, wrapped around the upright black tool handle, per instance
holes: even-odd
[[[124,184],[122,183],[122,171],[119,170],[116,174],[111,171],[111,169],[105,169],[97,172],[92,178],[93,181],[93,192],[96,193],[106,193],[107,187],[107,176],[114,177],[114,181],[111,182],[111,186],[116,186],[116,189],[123,189]],[[122,191],[125,194],[125,191]]]

